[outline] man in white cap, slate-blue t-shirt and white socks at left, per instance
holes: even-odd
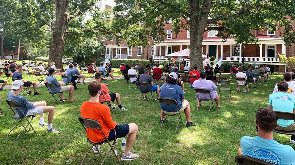
[[[8,93],[7,99],[13,100],[19,105],[20,110],[19,108],[15,108],[19,117],[24,117],[24,115],[40,115],[39,128],[48,126],[47,132],[59,133],[59,131],[52,127],[53,115],[55,111],[54,106],[46,106],[45,101],[29,102],[27,98],[21,96],[19,93],[24,89],[24,82],[22,80],[13,81],[11,89],[12,90]],[[48,124],[44,122],[44,113],[48,113]]]

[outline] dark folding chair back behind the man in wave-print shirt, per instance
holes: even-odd
[[[235,161],[237,165],[275,165],[255,158],[250,158],[246,155],[237,155]]]

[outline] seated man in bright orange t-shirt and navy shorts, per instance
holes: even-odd
[[[88,91],[91,98],[89,101],[82,104],[81,116],[83,118],[98,121],[109,141],[115,139],[115,132],[116,139],[127,135],[126,147],[124,153],[121,153],[121,161],[134,160],[138,158],[137,154],[132,154],[130,152],[130,148],[135,141],[135,137],[138,132],[138,126],[135,123],[117,125],[117,123],[112,119],[108,106],[99,103],[100,89],[101,85],[96,81],[92,81],[88,85]],[[106,141],[104,134],[100,131],[100,129],[86,128],[86,132],[87,137],[93,143],[102,143]],[[97,146],[97,148],[99,148],[99,146]],[[92,149],[94,153],[98,153],[95,146],[93,146]]]

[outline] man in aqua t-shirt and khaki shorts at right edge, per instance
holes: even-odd
[[[278,84],[277,93],[272,93],[268,98],[268,108],[274,111],[293,112],[295,113],[295,96],[289,94],[289,84],[280,81]],[[278,119],[278,130],[294,131],[294,120]],[[290,142],[295,144],[295,135],[291,136]]]

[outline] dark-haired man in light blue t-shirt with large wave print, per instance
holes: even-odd
[[[278,165],[294,165],[294,149],[290,145],[282,145],[273,140],[273,130],[277,126],[277,120],[275,111],[260,108],[255,121],[258,136],[242,137],[238,154]]]

